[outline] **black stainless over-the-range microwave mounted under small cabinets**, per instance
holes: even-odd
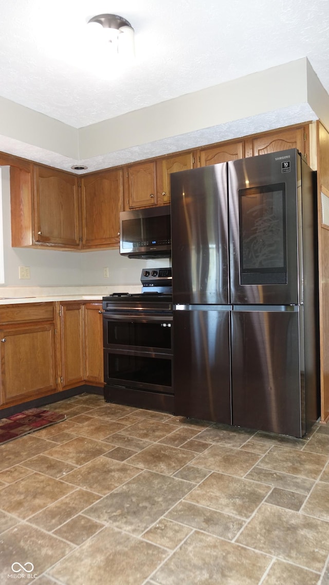
[[[170,258],[170,205],[120,212],[120,254],[129,258]]]

